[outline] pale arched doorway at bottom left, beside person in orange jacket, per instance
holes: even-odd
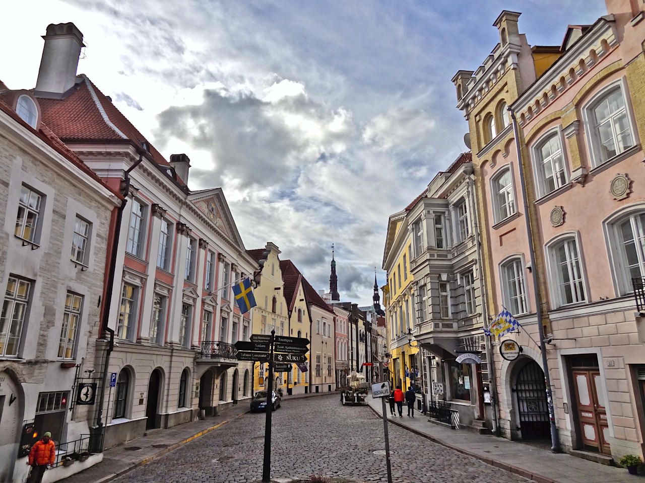
[[[0,482],[13,481],[15,457],[25,414],[25,395],[20,383],[8,371],[0,372]],[[23,462],[23,464],[25,464]]]

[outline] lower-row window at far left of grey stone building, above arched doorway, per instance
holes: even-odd
[[[18,355],[32,284],[9,277],[0,317],[0,355]]]

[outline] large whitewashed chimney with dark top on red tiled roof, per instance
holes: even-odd
[[[83,33],[71,23],[49,24],[43,35],[43,57],[38,71],[35,95],[63,99],[74,87],[83,44]]]

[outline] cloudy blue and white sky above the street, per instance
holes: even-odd
[[[388,216],[467,150],[450,79],[484,61],[504,9],[531,45],[606,14],[602,0],[10,1],[0,80],[33,88],[46,26],[74,22],[78,72],[166,159],[190,157],[191,189],[223,188],[246,249],[271,241],[328,289],[334,243],[341,299],[368,305]]]

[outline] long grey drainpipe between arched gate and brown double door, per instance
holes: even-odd
[[[526,182],[524,181],[524,168],[522,166],[522,148],[520,147],[519,128],[517,127],[517,118],[513,109],[508,108],[513,121],[513,135],[515,136],[515,149],[517,149],[517,164],[519,166],[520,184],[522,187],[522,204],[524,206],[524,221],[526,222],[526,234],[529,242],[529,254],[531,256],[531,274],[533,275],[533,292],[535,296],[535,312],[537,313],[537,330],[540,337],[540,352],[542,352],[542,367],[544,368],[544,382],[546,383],[546,403],[549,408],[549,419],[551,427],[551,451],[560,453],[560,438],[558,429],[555,426],[555,410],[553,408],[553,393],[551,392],[551,376],[549,375],[549,366],[546,361],[546,345],[544,344],[544,327],[542,326],[542,300],[537,281],[537,265],[535,265],[535,243],[531,235],[531,220],[528,216],[528,199],[526,196]]]

